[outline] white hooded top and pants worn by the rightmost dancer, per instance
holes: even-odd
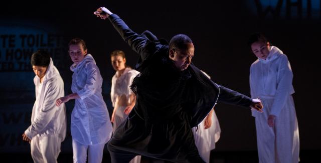
[[[255,117],[260,162],[298,162],[299,135],[291,94],[293,74],[290,63],[278,48],[271,46],[266,60],[256,60],[250,68],[252,98],[259,98],[263,113],[252,110]],[[275,115],[275,126],[267,124]]]

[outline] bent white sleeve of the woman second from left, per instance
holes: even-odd
[[[86,85],[83,89],[77,92],[78,96],[83,100],[86,97],[93,95],[96,91],[96,81],[98,78],[97,68],[94,64],[88,64],[85,68],[85,73],[87,74]]]

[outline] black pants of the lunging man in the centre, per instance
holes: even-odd
[[[182,112],[169,123],[145,124],[131,112],[108,142],[111,162],[129,162],[136,155],[173,162],[204,162],[184,115]]]

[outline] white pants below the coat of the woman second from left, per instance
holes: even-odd
[[[74,163],[85,163],[87,159],[88,150],[88,163],[96,163],[102,161],[102,155],[105,144],[83,145],[78,141],[72,139],[72,151],[74,153]]]

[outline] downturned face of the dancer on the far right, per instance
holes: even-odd
[[[260,59],[266,60],[270,53],[270,43],[264,43],[263,41],[254,42],[251,45],[252,52],[254,55]]]

